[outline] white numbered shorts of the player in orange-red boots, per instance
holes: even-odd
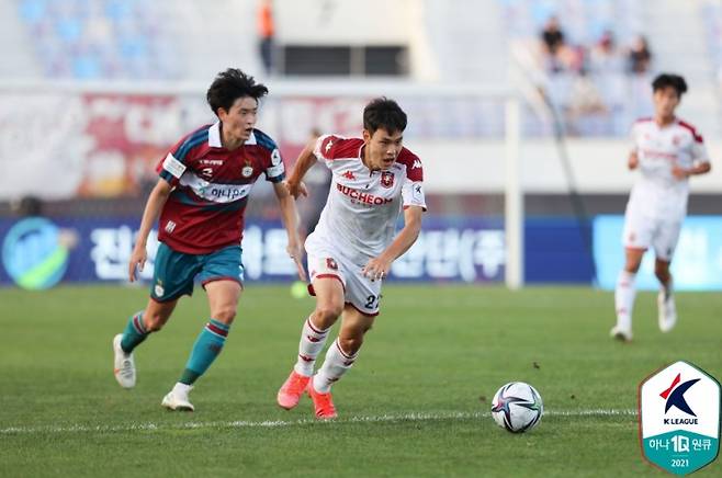
[[[345,301],[366,316],[379,315],[382,281],[371,281],[361,273],[361,266],[346,259],[331,248],[309,244],[306,241],[308,275],[317,278],[336,278],[343,285]],[[312,295],[313,286],[308,287]]]

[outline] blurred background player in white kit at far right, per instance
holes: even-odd
[[[657,296],[659,330],[668,332],[677,321],[669,263],[679,230],[687,214],[688,178],[710,171],[702,136],[675,116],[685,79],[659,75],[652,82],[654,117],[638,121],[632,127],[633,147],[629,169],[640,171],[627,203],[622,242],[624,269],[614,292],[617,325],[611,335],[632,340],[634,278],[648,248],[656,255],[654,272],[659,280]]]

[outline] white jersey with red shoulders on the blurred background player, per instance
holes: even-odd
[[[652,118],[639,120],[632,126],[633,151],[639,158],[640,175],[630,195],[630,203],[644,204],[663,214],[687,210],[689,181],[677,179],[674,166],[689,169],[709,161],[702,136],[688,123],[675,120],[659,126]]]

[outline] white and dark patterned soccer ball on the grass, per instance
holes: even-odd
[[[544,405],[534,387],[523,382],[506,384],[494,396],[492,417],[497,425],[511,433],[533,429],[541,420]]]

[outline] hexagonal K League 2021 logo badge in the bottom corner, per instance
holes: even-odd
[[[676,362],[640,384],[644,457],[675,475],[712,463],[720,449],[720,384],[701,368]]]

